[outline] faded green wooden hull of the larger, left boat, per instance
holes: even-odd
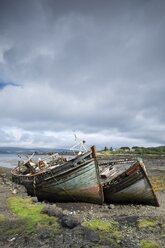
[[[30,195],[52,202],[83,201],[102,204],[103,189],[93,158],[81,157],[36,175],[17,175],[14,182],[23,184]]]

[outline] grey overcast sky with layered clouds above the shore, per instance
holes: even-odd
[[[0,0],[0,146],[165,145],[164,0]]]

